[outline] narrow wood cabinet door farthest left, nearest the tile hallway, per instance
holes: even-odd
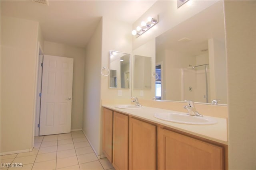
[[[113,111],[103,109],[103,152],[112,163],[113,149]]]

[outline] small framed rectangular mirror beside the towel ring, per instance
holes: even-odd
[[[130,54],[110,51],[110,88],[130,88]]]

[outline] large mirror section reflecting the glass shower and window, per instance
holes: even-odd
[[[221,1],[156,37],[156,73],[156,99],[227,104]]]

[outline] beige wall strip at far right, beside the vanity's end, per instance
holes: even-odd
[[[229,169],[256,169],[256,1],[224,1]]]

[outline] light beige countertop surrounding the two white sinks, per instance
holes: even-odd
[[[202,137],[205,139],[209,139],[211,141],[228,145],[227,119],[225,118],[214,117],[214,119],[218,121],[218,123],[214,125],[188,125],[188,124],[182,124],[182,123],[173,123],[169,121],[163,121],[154,117],[154,113],[161,113],[161,112],[181,113],[178,111],[159,109],[154,107],[146,107],[146,106],[143,106],[143,108],[140,108],[140,109],[120,109],[120,108],[116,108],[115,106],[117,105],[116,104],[102,105],[102,107],[105,107],[114,111],[132,115],[134,117],[138,117],[140,119],[157,123],[159,125],[170,127],[172,129],[176,129],[179,131],[190,133],[192,135],[196,135],[198,137]],[[202,115],[204,115],[204,113],[202,113]]]

